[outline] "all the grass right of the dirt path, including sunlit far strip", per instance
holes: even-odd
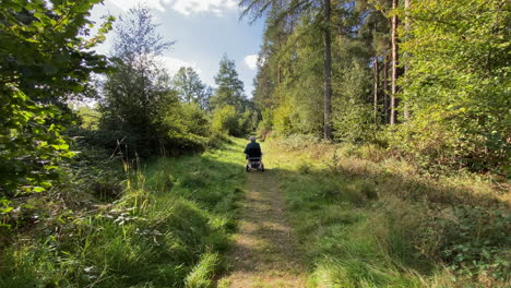
[[[311,287],[511,284],[504,193],[474,177],[430,179],[407,163],[294,143],[266,143],[265,161],[277,170]]]

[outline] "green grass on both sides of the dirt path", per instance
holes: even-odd
[[[110,171],[84,178],[90,167],[57,196],[32,199],[19,233],[0,233],[0,287],[214,287],[243,196],[243,144],[153,159],[121,185]],[[431,179],[373,149],[292,144],[265,143],[264,160],[311,287],[510,286],[508,191]]]

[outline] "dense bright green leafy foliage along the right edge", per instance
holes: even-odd
[[[507,5],[499,0],[414,3],[409,11],[414,22],[403,43],[403,52],[412,56],[405,58],[409,71],[403,80],[403,98],[414,118],[402,144],[420,149],[427,145],[423,140],[432,139],[437,147],[424,152],[425,157],[473,170],[492,169],[506,161],[510,106]],[[413,129],[418,127],[427,129]],[[408,143],[407,139],[417,141]]]

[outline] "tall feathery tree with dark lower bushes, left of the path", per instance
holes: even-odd
[[[105,145],[122,145],[140,156],[194,149],[205,145],[210,89],[197,72],[182,68],[173,77],[157,57],[173,43],[164,40],[148,9],[130,9],[116,27],[115,72],[104,84],[100,103]]]

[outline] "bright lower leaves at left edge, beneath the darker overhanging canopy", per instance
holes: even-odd
[[[9,96],[0,108],[0,192],[13,196],[20,192],[41,192],[58,179],[57,165],[71,157],[61,135],[60,109],[32,101],[16,88],[4,88]],[[52,123],[54,122],[54,123]]]

